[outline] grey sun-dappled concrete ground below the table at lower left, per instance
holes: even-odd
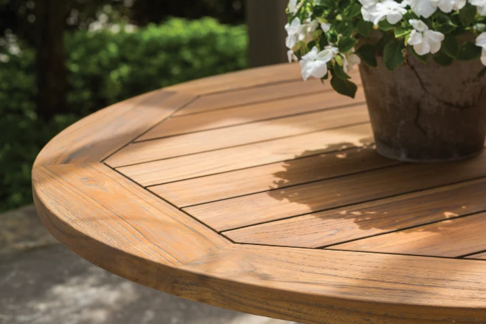
[[[290,324],[136,285],[64,248],[33,206],[0,215],[0,324]]]

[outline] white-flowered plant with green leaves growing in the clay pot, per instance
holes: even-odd
[[[304,80],[331,75],[345,96],[357,91],[348,72],[361,60],[377,66],[377,55],[390,71],[407,53],[424,64],[486,65],[486,0],[290,0],[287,12],[289,61],[300,62]]]

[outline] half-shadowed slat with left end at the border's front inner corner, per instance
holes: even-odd
[[[486,179],[224,232],[234,242],[317,248],[486,210]]]

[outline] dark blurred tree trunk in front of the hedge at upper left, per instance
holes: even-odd
[[[66,111],[67,72],[64,53],[66,0],[35,1],[37,15],[37,114],[50,120]]]

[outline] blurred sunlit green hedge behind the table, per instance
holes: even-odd
[[[35,114],[35,52],[0,62],[0,210],[32,201],[30,168],[37,153],[75,120],[153,89],[246,67],[246,29],[215,19],[170,19],[135,33],[66,35],[69,115],[48,125]],[[1,58],[1,57],[0,57]],[[3,60],[5,56],[3,56]]]

